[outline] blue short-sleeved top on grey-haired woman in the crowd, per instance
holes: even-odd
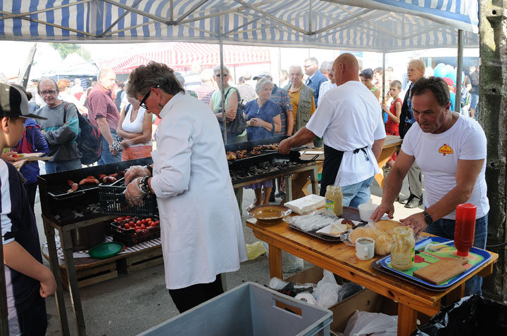
[[[246,114],[246,121],[252,118],[263,119],[265,122],[273,123],[273,117],[280,115],[280,106],[273,101],[266,101],[261,108],[258,107],[257,100],[249,101],[243,111]],[[272,138],[275,136],[275,127],[273,131],[268,131],[262,126],[246,127],[246,137],[249,141],[263,138]]]

